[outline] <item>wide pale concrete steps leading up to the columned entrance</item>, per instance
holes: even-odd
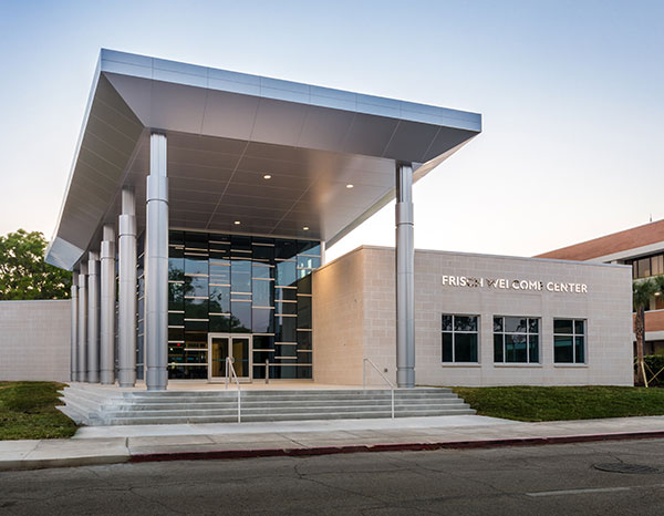
[[[59,409],[85,425],[236,423],[238,395],[228,391],[120,391],[72,385]],[[449,389],[396,389],[395,417],[475,414]],[[241,421],[391,417],[390,390],[243,390]]]

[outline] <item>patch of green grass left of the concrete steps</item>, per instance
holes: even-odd
[[[55,409],[55,382],[0,382],[0,441],[71,437],[76,424]]]

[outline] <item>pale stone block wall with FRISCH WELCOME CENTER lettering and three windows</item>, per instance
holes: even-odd
[[[357,270],[360,269],[360,270]],[[332,279],[334,271],[334,281]],[[494,288],[443,285],[444,276],[513,280],[537,288]],[[345,360],[350,353],[356,362],[361,355],[371,358],[381,369],[387,369],[395,380],[395,300],[394,249],[364,246],[329,264],[314,274],[326,285],[315,290],[314,362],[319,361],[321,378],[335,378],[326,371],[331,358]],[[361,281],[361,287],[357,285]],[[548,283],[551,283],[549,288]],[[559,285],[573,283],[568,291]],[[445,251],[415,252],[415,340],[416,381],[421,385],[631,385],[632,373],[632,307],[631,269],[591,262],[572,262],[532,258],[515,258]],[[349,289],[349,292],[345,291]],[[326,320],[325,307],[346,307],[350,292],[362,299],[357,320],[340,317],[340,324],[320,326]],[[346,302],[342,302],[341,299]],[[479,316],[479,360],[476,364],[442,362],[442,314]],[[532,317],[540,319],[539,363],[494,363],[494,316]],[[587,360],[582,364],[553,363],[553,319],[570,318],[587,321]],[[357,339],[339,332],[362,332]],[[315,345],[315,344],[314,344]],[[349,349],[353,347],[353,349]],[[328,353],[328,354],[326,354]],[[317,357],[318,354],[318,357]],[[314,369],[315,370],[315,369]],[[345,382],[361,383],[356,369],[346,370]],[[317,376],[318,380],[318,376]],[[326,382],[333,383],[330,380]],[[334,383],[343,383],[342,381]],[[380,383],[377,379],[373,383]]]

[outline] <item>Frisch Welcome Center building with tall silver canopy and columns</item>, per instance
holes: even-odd
[[[475,113],[102,50],[46,261],[71,376],[632,384],[631,269],[417,250]],[[396,248],[325,247],[396,198]],[[444,224],[443,224],[444,226]],[[68,343],[69,345],[69,343]],[[380,379],[378,379],[380,381]]]

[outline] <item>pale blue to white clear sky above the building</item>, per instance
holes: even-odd
[[[0,234],[51,238],[101,48],[483,114],[418,248],[531,256],[664,218],[664,1],[0,3]],[[394,244],[394,206],[330,249]]]

